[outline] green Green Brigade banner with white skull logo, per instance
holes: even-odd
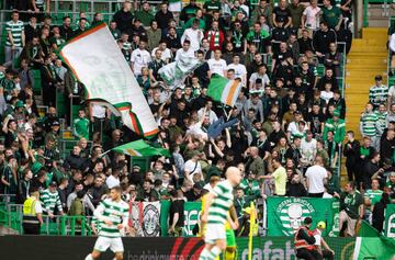
[[[339,202],[336,199],[268,197],[268,236],[293,236],[305,217],[326,223],[323,236],[339,234]]]

